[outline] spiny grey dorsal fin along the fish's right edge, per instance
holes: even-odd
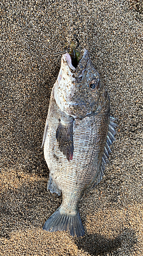
[[[96,185],[103,178],[104,169],[105,169],[106,163],[108,162],[109,154],[111,153],[111,150],[110,150],[109,146],[115,140],[115,134],[116,134],[115,127],[118,126],[118,125],[114,121],[116,121],[116,118],[110,116],[110,118],[109,118],[109,126],[108,126],[108,134],[107,134],[107,137],[106,137],[106,143],[105,143],[105,146],[104,146],[104,152],[103,152],[103,156],[102,156],[102,161],[101,161],[101,164],[100,164],[100,167],[99,167],[99,173],[97,175],[97,183],[96,183]]]

